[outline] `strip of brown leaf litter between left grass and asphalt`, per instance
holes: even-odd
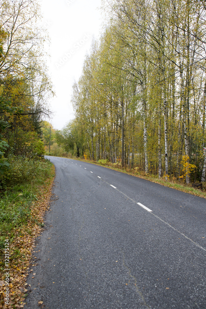
[[[53,175],[54,174],[53,166]],[[36,237],[43,231],[43,227],[41,226],[44,223],[44,214],[49,210],[48,205],[52,196],[53,180],[54,177],[51,177],[45,181],[44,186],[40,189],[38,200],[32,202],[31,212],[32,218],[35,220],[30,220],[26,226],[16,228],[14,231],[15,236],[13,237],[12,242],[10,242],[9,305],[4,303],[6,286],[4,285],[4,262],[1,259],[0,309],[23,308],[25,305],[24,301],[28,291],[25,281],[31,266],[35,266],[35,264],[32,264],[31,262],[32,254],[34,254],[32,251],[36,247]],[[39,304],[42,305],[42,303]]]

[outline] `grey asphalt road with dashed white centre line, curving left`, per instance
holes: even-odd
[[[54,201],[24,309],[206,308],[205,199],[94,164],[49,159]]]

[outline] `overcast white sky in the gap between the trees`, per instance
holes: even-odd
[[[50,106],[52,123],[62,129],[74,119],[71,104],[72,85],[78,81],[92,36],[102,33],[101,0],[41,0],[43,25],[50,36],[48,67],[56,97]],[[66,55],[67,54],[67,55]]]

